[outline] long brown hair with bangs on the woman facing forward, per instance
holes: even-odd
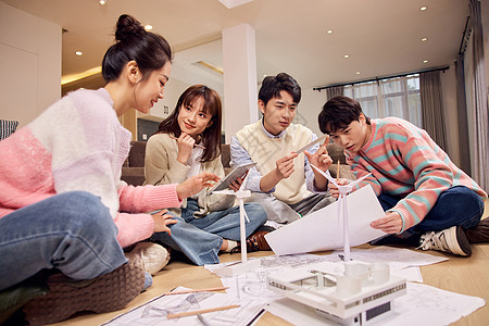
[[[204,163],[216,159],[221,154],[221,120],[222,104],[220,95],[204,85],[193,85],[187,88],[179,97],[175,110],[161,122],[155,134],[173,134],[180,137],[181,129],[178,125],[178,114],[180,109],[192,105],[199,98],[203,100],[202,111],[212,114],[212,124],[200,135],[201,145],[205,148],[199,161]]]

